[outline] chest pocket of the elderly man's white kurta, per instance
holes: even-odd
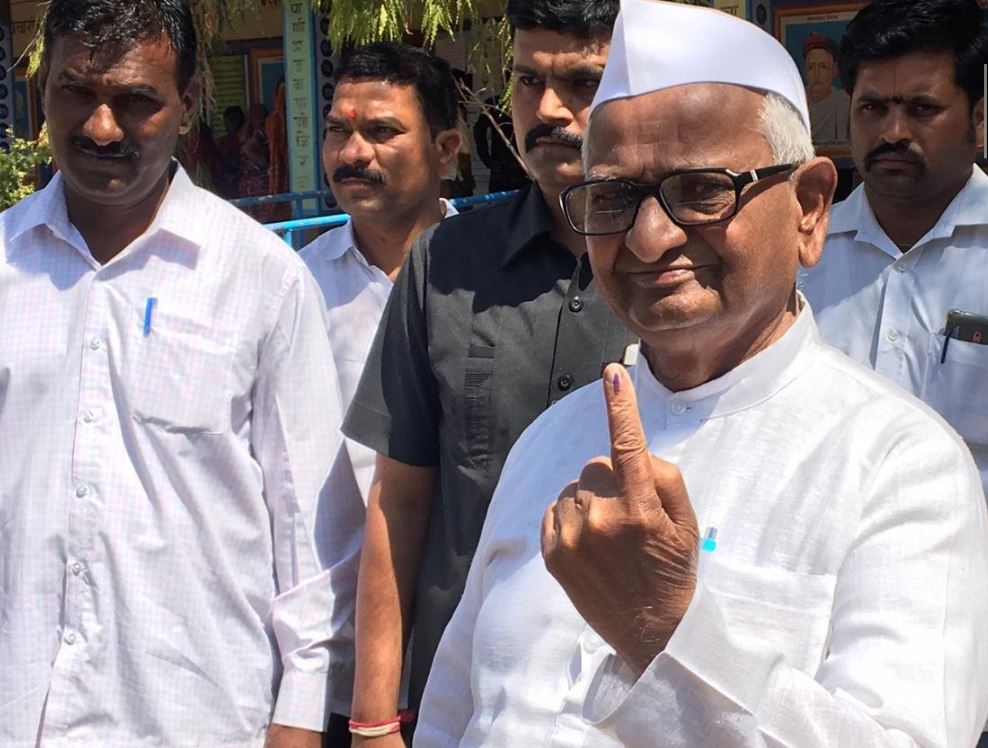
[[[769,645],[789,666],[814,675],[830,633],[837,576],[703,555],[703,583],[716,596],[727,630]]]

